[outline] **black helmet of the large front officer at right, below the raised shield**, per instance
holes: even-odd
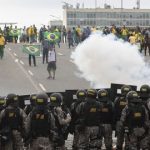
[[[139,99],[138,93],[136,91],[130,91],[127,93],[126,98],[128,103],[139,103],[141,100]]]

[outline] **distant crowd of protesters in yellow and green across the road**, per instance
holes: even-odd
[[[84,41],[92,32],[101,30],[104,34],[114,34],[118,38],[122,38],[125,41],[130,42],[131,44],[139,44],[140,52],[144,50],[146,55],[147,49],[150,53],[150,29],[141,29],[140,27],[127,28],[126,26],[116,27],[112,25],[111,27],[97,28],[97,27],[84,27],[80,26],[73,28],[57,27],[57,26],[45,26],[43,25],[40,29],[37,29],[35,25],[29,27],[24,26],[19,29],[17,26],[5,26],[4,29],[0,28],[0,33],[2,33],[7,42],[17,43],[18,37],[20,42],[42,42],[44,40],[44,33],[50,32],[55,33],[58,37],[56,44],[60,47],[60,43],[68,43],[68,47],[74,47],[80,42]]]

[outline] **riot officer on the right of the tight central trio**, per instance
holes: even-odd
[[[100,127],[102,137],[104,137],[106,150],[112,150],[112,123],[114,104],[110,100],[108,92],[105,89],[98,91],[98,101],[102,106],[100,110]]]

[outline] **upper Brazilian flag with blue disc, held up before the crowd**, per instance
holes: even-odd
[[[52,43],[56,43],[59,37],[53,32],[44,32],[44,38],[48,39]]]

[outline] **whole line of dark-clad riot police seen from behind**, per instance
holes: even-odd
[[[24,110],[16,94],[1,97],[0,149],[65,150],[70,133],[73,150],[100,150],[103,139],[106,150],[112,150],[113,130],[117,150],[150,149],[148,85],[140,92],[123,85],[114,102],[105,89],[78,90],[76,96],[67,108],[60,93],[33,94]]]

